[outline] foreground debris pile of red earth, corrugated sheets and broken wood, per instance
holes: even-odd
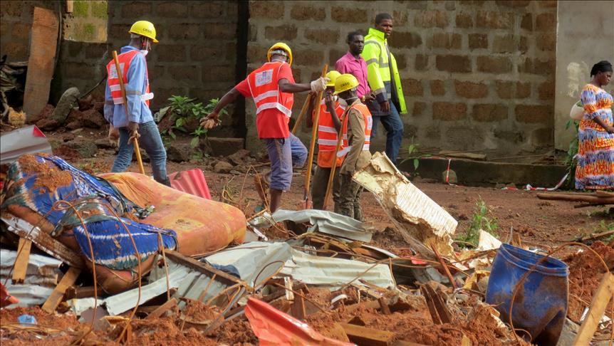
[[[227,159],[229,164],[239,165],[249,162],[245,157],[237,153]],[[94,246],[106,246],[98,239],[102,234],[95,233],[95,222],[108,220],[99,208],[91,207],[91,194],[82,191],[90,176],[48,155],[23,156],[9,169],[2,192],[1,241],[11,250],[5,254],[3,249],[1,280],[7,284],[9,294],[19,299],[19,303],[0,312],[3,345],[38,340],[47,345],[536,342],[538,335],[518,330],[514,333],[510,323],[503,322],[507,316],[501,313],[501,306],[509,305],[509,300],[485,303],[488,291],[499,289],[495,282],[499,279],[490,278],[511,275],[494,265],[496,258],[502,256],[501,242],[482,231],[476,249],[458,248],[449,241],[456,221],[426,195],[422,196],[421,204],[412,205],[397,200],[395,194],[378,192],[378,189],[388,192],[415,189],[411,192],[415,195],[420,192],[393,167],[387,169],[380,159],[375,157],[371,162],[374,169],[365,169],[355,176],[360,184],[378,194],[395,225],[376,236],[368,224],[330,211],[279,209],[270,214],[265,209],[244,218],[244,214],[227,204],[210,201],[217,208],[211,209],[197,204],[206,199],[177,190],[170,194],[157,183],[142,182],[130,174],[103,174],[103,179],[97,180],[102,185],[95,186],[106,195],[98,194],[98,199],[108,198],[115,201],[111,204],[115,208],[123,203],[125,210],[137,211],[130,213],[132,219],[123,221],[125,225],[142,222],[167,230],[153,231],[160,238],[154,240],[150,255],[135,266],[134,253],[130,252],[134,247],[129,238],[152,229],[130,229],[130,237],[122,224],[112,227],[120,230],[117,232],[101,229],[105,232],[102,234],[113,239],[109,248],[128,263],[123,267],[130,267],[130,271],[119,271],[116,258],[94,258],[85,251],[88,247],[78,241],[80,221],[72,217],[76,223],[68,222],[72,214],[66,217],[54,214],[58,211],[49,207],[46,212],[50,215],[62,216],[61,222],[50,223],[45,219],[46,209],[36,204],[39,195],[49,199],[45,204],[49,206],[59,202],[54,198],[69,201],[92,232]],[[21,173],[16,174],[18,171]],[[40,179],[31,181],[32,172]],[[60,179],[68,172],[65,177],[68,179]],[[182,179],[173,178],[177,184]],[[76,196],[69,196],[68,189]],[[183,191],[191,189],[194,187],[186,186]],[[16,206],[19,195],[16,191],[28,195],[20,200],[35,201],[39,213],[36,218],[24,212],[24,208],[32,207],[30,204]],[[207,189],[199,194],[208,193]],[[80,207],[80,203],[90,207]],[[184,210],[172,209],[171,213],[171,206]],[[194,213],[194,208],[199,213]],[[215,234],[221,231],[213,234],[197,230],[224,224],[227,222],[224,213],[229,211],[231,219],[238,220],[246,233],[234,238],[230,238],[232,232],[224,233],[224,240],[215,238],[219,245],[211,246]],[[126,215],[125,211],[118,214]],[[215,219],[200,220],[194,214],[214,215]],[[113,220],[116,219],[119,218]],[[164,220],[169,222],[161,224]],[[56,224],[63,226],[58,229]],[[428,235],[417,234],[415,229]],[[170,234],[175,234],[174,241],[162,237]],[[71,236],[76,237],[77,243],[67,241]],[[208,239],[208,247],[198,245],[203,237]],[[147,248],[143,239],[136,238],[134,246],[140,250]],[[514,246],[505,247],[525,251],[537,264],[542,258],[558,261],[549,258],[545,251],[524,246],[519,237],[514,238]],[[593,292],[602,277],[610,275],[605,274],[601,259],[609,263],[608,270],[614,269],[614,250],[610,246],[595,242],[592,249],[597,255],[585,249],[565,258],[569,264],[570,305],[561,338],[566,340],[570,337],[574,340],[575,332],[569,331],[570,326],[573,330],[576,325],[577,329],[577,324],[587,320],[585,316],[590,314],[585,310],[593,300]],[[100,253],[98,248],[93,252],[96,256]],[[524,270],[533,275],[542,269],[529,265]],[[563,271],[566,270],[564,266]],[[123,285],[114,286],[115,290],[108,285],[108,280],[117,280],[112,279],[110,272],[124,281]],[[516,280],[524,279],[519,276]],[[48,293],[36,296],[18,289],[33,285],[44,286]],[[506,289],[514,293],[519,285]],[[37,293],[41,295],[41,291]],[[528,291],[522,294],[525,300],[531,298]],[[514,308],[520,308],[521,301],[511,300],[516,303]],[[14,308],[15,305],[18,307]],[[24,315],[31,315],[33,320],[29,324],[20,322]],[[611,328],[611,318],[608,312],[600,321],[596,340]]]

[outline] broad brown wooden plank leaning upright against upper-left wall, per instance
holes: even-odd
[[[24,93],[24,111],[30,120],[47,105],[58,44],[58,15],[34,7],[30,36],[30,56]]]

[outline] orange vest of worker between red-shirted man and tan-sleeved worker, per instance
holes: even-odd
[[[339,101],[335,101],[335,116],[339,119],[343,116],[343,108]],[[318,118],[318,166],[320,167],[333,167],[333,152],[337,147],[338,132],[335,129],[333,122],[333,115],[328,112],[326,103],[324,100],[320,103],[320,117]],[[345,147],[348,147],[348,122],[343,123],[343,142],[339,151],[342,151]],[[342,157],[337,157],[337,167],[343,163]]]

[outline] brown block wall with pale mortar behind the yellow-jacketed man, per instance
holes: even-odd
[[[286,41],[295,79],[306,83],[347,51],[349,31],[366,33],[385,11],[394,17],[389,43],[408,104],[405,142],[544,152],[553,149],[556,9],[556,1],[519,0],[249,1],[248,70],[272,43]],[[295,98],[293,114],[304,98]],[[253,103],[246,113],[248,136],[257,138]],[[384,146],[379,134],[376,150]],[[300,136],[308,142],[306,129]]]

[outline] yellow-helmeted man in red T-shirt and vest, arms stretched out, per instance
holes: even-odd
[[[328,78],[318,78],[311,84],[297,84],[292,76],[292,51],[286,43],[275,43],[266,53],[267,63],[249,73],[241,83],[219,100],[215,109],[201,121],[217,122],[218,113],[239,95],[252,98],[256,104],[256,129],[266,144],[271,160],[271,213],[281,204],[281,194],[290,189],[293,164],[302,167],[307,159],[307,148],[290,133],[293,93],[311,90],[318,93],[326,89]],[[311,167],[309,167],[311,169]]]

